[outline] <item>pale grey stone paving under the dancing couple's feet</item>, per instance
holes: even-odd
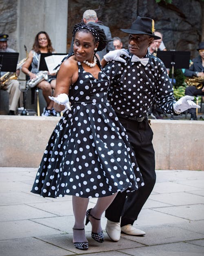
[[[155,188],[135,222],[146,236],[122,234],[119,242],[111,242],[104,231],[99,244],[89,223],[89,250],[80,251],[72,243],[71,197],[30,193],[36,170],[0,168],[0,256],[204,255],[204,171],[157,170]]]

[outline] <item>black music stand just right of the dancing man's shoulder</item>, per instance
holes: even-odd
[[[164,62],[166,68],[172,68],[172,84],[174,68],[189,68],[191,52],[187,51],[158,51],[157,57]]]

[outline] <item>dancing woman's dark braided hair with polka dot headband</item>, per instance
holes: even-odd
[[[92,36],[94,37],[95,43],[99,42],[97,51],[102,51],[106,47],[107,38],[104,33],[104,30],[100,29],[100,27],[98,27],[97,25],[92,25],[92,24],[86,25],[83,22],[75,24],[72,30],[72,36],[74,39],[75,39],[75,34],[82,29],[87,33],[92,34]]]

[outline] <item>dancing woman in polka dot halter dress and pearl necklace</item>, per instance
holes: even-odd
[[[109,80],[95,57],[106,45],[104,31],[79,23],[73,37],[74,55],[60,66],[58,97],[51,97],[55,110],[64,110],[64,115],[49,139],[31,192],[73,196],[73,242],[86,250],[85,215],[92,238],[103,242],[102,213],[119,191],[137,190],[144,183],[126,132],[107,100]],[[90,197],[98,201],[86,211]]]

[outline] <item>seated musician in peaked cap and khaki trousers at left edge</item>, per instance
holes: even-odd
[[[8,41],[7,34],[0,34],[0,52],[15,52],[13,49],[8,48],[7,41]],[[6,72],[1,72],[1,76],[4,75]],[[18,76],[20,70],[16,70],[16,75]],[[9,82],[5,84],[0,84],[0,88],[5,90],[9,93],[9,113],[8,115],[15,115],[16,108],[18,105],[18,100],[20,98],[20,89],[19,89],[19,82],[16,79],[11,79]]]

